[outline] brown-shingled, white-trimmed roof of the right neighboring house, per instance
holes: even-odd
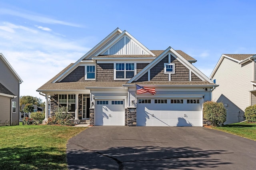
[[[215,75],[224,58],[230,59],[231,61],[234,61],[238,64],[243,64],[247,61],[250,61],[250,59],[253,57],[256,57],[256,54],[222,54],[216,66],[214,67],[210,78],[212,79],[212,77]]]

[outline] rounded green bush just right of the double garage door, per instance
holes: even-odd
[[[204,119],[212,123],[212,126],[223,125],[227,117],[223,103],[214,101],[206,101],[204,103],[203,115]]]

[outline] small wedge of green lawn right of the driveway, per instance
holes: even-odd
[[[234,123],[230,125],[224,125],[223,127],[211,127],[216,130],[236,134],[244,138],[256,140],[256,123]]]

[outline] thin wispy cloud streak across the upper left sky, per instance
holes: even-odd
[[[70,22],[65,22],[65,21],[60,21],[60,20],[55,20],[49,17],[45,16],[40,16],[40,14],[35,14],[27,11],[20,12],[21,10],[11,10],[11,9],[6,9],[6,8],[0,8],[0,14],[5,14],[5,15],[11,15],[11,16],[16,16],[20,18],[25,18],[27,20],[32,20],[40,23],[45,23],[45,24],[60,24],[60,25],[66,25],[66,26],[72,26],[72,27],[82,27],[79,24],[73,24]]]

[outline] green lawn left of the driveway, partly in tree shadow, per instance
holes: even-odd
[[[67,170],[66,143],[86,127],[0,127],[0,170]]]

